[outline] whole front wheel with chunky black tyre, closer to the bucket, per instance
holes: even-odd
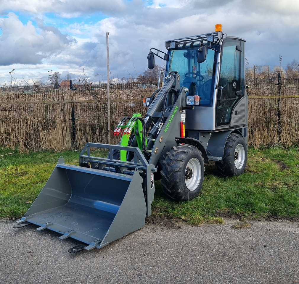
[[[196,147],[172,147],[166,153],[161,170],[163,193],[174,201],[193,199],[202,188],[204,173],[204,159]]]

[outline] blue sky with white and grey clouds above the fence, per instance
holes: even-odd
[[[49,83],[51,71],[104,82],[106,32],[110,79],[137,78],[151,47],[218,23],[246,40],[249,66],[285,68],[299,64],[298,19],[298,0],[0,0],[0,84]]]

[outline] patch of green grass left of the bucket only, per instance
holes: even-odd
[[[77,164],[79,152],[0,151],[0,218],[22,216],[36,199],[53,171],[60,155]]]

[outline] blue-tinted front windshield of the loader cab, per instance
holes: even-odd
[[[205,62],[197,62],[198,46],[188,49],[170,51],[168,71],[180,74],[181,86],[190,89],[191,83],[196,84],[196,94],[200,97],[200,106],[211,106],[215,77],[215,51],[208,48]]]

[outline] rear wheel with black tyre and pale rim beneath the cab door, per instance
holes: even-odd
[[[244,138],[236,133],[228,136],[223,152],[223,161],[215,162],[219,173],[223,176],[240,175],[247,162],[247,145]]]

